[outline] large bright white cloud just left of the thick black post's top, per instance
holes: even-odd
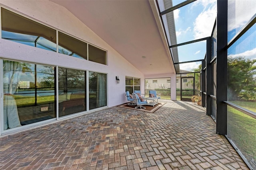
[[[208,37],[212,33],[212,28],[214,21],[216,19],[216,8],[217,5],[212,4],[209,8],[205,8],[201,12],[194,22],[194,38],[200,39],[203,37]]]

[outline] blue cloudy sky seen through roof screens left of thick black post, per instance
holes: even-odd
[[[173,0],[173,6],[185,0]],[[174,10],[177,43],[209,37],[216,18],[216,0],[197,0]],[[178,47],[179,61],[204,59],[206,41],[200,41]],[[191,71],[198,68],[200,62],[180,64],[180,69]]]

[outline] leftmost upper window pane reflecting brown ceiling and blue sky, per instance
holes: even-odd
[[[56,51],[56,30],[4,8],[1,8],[1,19],[3,39]]]

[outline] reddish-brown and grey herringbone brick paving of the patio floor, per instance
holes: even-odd
[[[1,170],[247,170],[205,109],[111,107],[0,138]]]

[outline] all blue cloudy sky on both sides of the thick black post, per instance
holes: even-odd
[[[173,0],[173,6],[185,0]],[[230,0],[228,2],[228,41],[255,15],[256,0]],[[197,0],[174,10],[177,43],[211,36],[217,15],[216,0]],[[243,56],[256,59],[256,24],[228,49],[229,57]],[[206,41],[178,47],[179,61],[204,59]],[[191,71],[200,62],[180,64],[180,69]]]

